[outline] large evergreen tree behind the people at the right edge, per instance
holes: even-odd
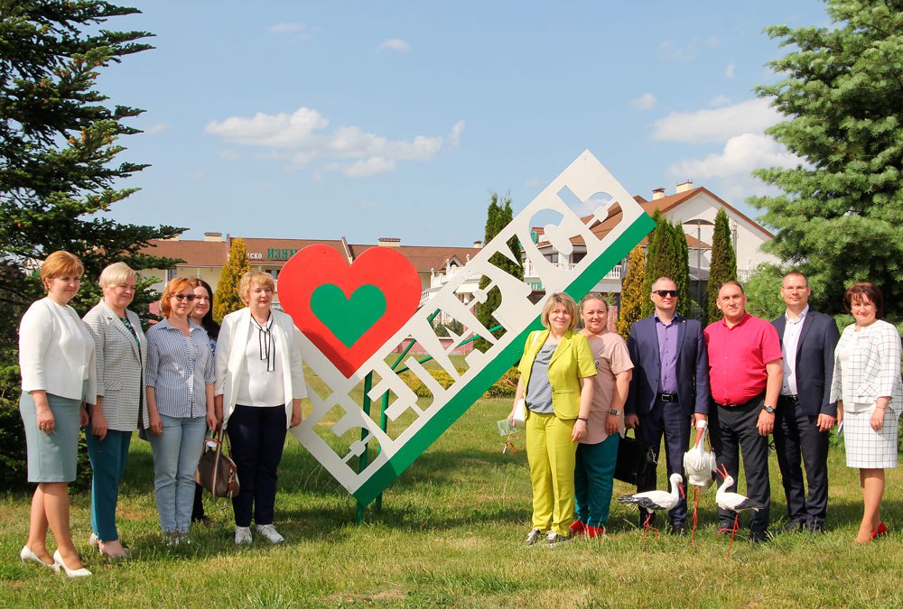
[[[903,317],[903,3],[827,0],[830,27],[775,25],[790,49],[770,62],[780,77],[757,89],[786,120],[768,130],[803,161],[755,174],[783,191],[750,198],[777,228],[766,245],[824,285],[819,310],[839,312],[842,292],[868,280],[885,312]]]

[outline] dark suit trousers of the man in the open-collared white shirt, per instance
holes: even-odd
[[[818,416],[805,414],[795,400],[782,395],[777,401],[775,448],[787,496],[787,517],[810,529],[821,528],[828,511],[828,436],[831,432],[822,433],[817,423]],[[809,484],[808,500],[801,463],[805,466]]]

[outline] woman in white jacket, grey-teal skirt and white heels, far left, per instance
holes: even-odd
[[[54,252],[41,267],[47,297],[25,311],[19,326],[22,398],[19,412],[28,444],[28,481],[38,487],[32,497],[28,543],[19,553],[69,577],[91,572],[72,543],[69,483],[75,480],[79,428],[88,424],[85,402],[97,396],[94,340],[79,314],[69,306],[85,272],[79,258]],[[47,549],[47,527],[57,550]]]

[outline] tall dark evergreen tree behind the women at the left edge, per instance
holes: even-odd
[[[140,254],[172,226],[135,226],[105,215],[133,192],[120,184],[144,164],[116,162],[126,120],[143,111],[112,105],[97,88],[101,69],[151,47],[147,32],[107,30],[110,18],[138,13],[107,2],[0,2],[0,341],[14,345],[25,305],[42,286],[29,261],[56,250],[85,264],[84,312],[99,298],[100,271],[123,261],[135,270],[175,261]],[[149,283],[149,282],[148,282]],[[154,299],[135,295],[136,309]],[[145,307],[146,309],[146,307]],[[6,355],[5,355],[6,356]]]

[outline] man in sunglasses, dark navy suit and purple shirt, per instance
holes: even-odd
[[[684,452],[690,448],[690,424],[708,419],[709,359],[703,327],[694,319],[675,314],[677,286],[670,277],[652,284],[656,312],[630,328],[628,350],[634,374],[624,411],[624,424],[637,429],[639,440],[651,447],[658,460],[665,436],[668,475],[684,475]],[[656,488],[656,466],[637,483],[642,493]],[[647,512],[640,508],[640,520]],[[652,514],[654,518],[655,514]],[[686,520],[686,499],[670,512],[669,531],[680,534]],[[651,520],[650,520],[651,521]]]

